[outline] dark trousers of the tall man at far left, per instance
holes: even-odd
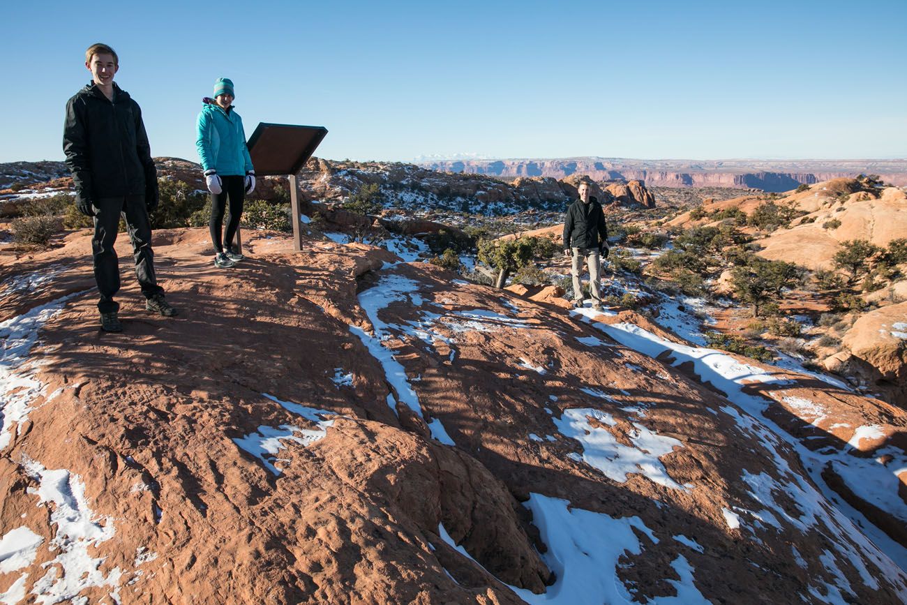
[[[141,195],[125,198],[102,198],[94,201],[94,237],[92,255],[94,280],[98,283],[101,299],[98,310],[110,313],[120,308],[113,295],[120,289],[120,261],[113,244],[120,228],[120,216],[126,220],[129,239],[132,241],[132,256],[135,258],[135,275],[139,278],[141,293],[145,298],[163,292],[154,276],[154,251],[151,249],[151,224],[145,197]]]

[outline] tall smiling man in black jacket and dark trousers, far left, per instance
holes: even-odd
[[[120,67],[116,53],[107,44],[92,44],[85,51],[85,67],[92,82],[66,103],[63,152],[73,172],[75,205],[94,221],[92,252],[101,293],[101,329],[122,332],[120,305],[113,300],[120,289],[113,244],[121,214],[132,240],[145,308],[164,317],[176,315],[154,275],[148,213],[158,205],[157,170],[139,103],[113,83]]]

